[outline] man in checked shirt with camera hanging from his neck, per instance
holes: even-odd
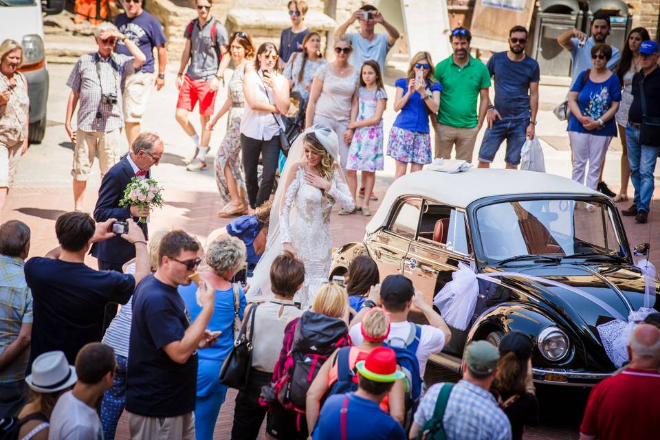
[[[65,129],[74,143],[74,209],[83,209],[87,179],[94,157],[98,156],[101,175],[119,161],[120,131],[124,127],[122,91],[126,76],[142,67],[146,56],[133,41],[126,39],[112,23],[101,23],[94,30],[98,52],[78,59],[67,85]],[[123,41],[132,56],[113,54],[117,41]],[[71,119],[78,108],[76,131]]]

